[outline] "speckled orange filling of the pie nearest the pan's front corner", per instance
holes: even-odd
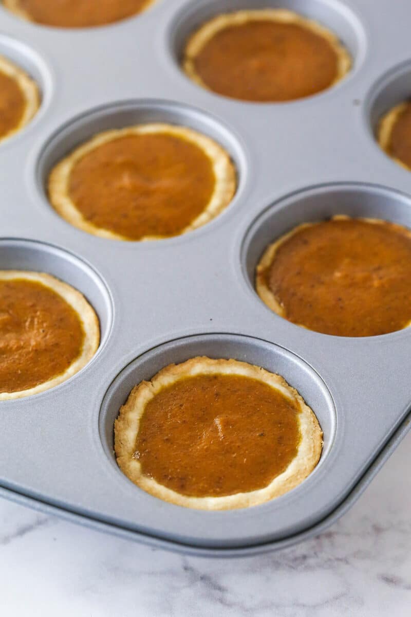
[[[257,379],[185,377],[146,405],[133,457],[145,476],[182,495],[256,491],[295,458],[298,415],[293,400]]]

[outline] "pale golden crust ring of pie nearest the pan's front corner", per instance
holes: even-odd
[[[163,389],[179,379],[206,374],[242,375],[258,379],[262,383],[282,392],[299,407],[299,429],[301,441],[296,457],[287,470],[274,478],[264,489],[228,495],[226,497],[187,497],[159,484],[152,478],[144,476],[140,462],[133,458],[139,422],[146,405]],[[213,360],[197,357],[182,364],[171,364],[163,368],[151,381],[142,381],[134,387],[128,400],[120,409],[115,421],[115,453],[117,463],[129,479],[144,491],[167,502],[198,510],[230,510],[246,508],[267,502],[274,497],[290,491],[300,484],[319,462],[322,452],[322,431],[311,408],[306,405],[301,395],[287,384],[285,379],[270,373],[259,366],[237,360]]]

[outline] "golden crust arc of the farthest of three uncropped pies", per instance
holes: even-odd
[[[188,77],[190,77],[190,79],[198,83],[198,85],[203,88],[210,89],[195,70],[195,58],[208,43],[208,41],[210,41],[210,39],[213,38],[213,36],[215,36],[219,31],[230,26],[242,25],[244,23],[253,22],[256,20],[277,23],[294,23],[311,30],[316,35],[325,38],[332,46],[337,57],[337,74],[335,80],[330,84],[330,86],[335,85],[349,72],[352,65],[351,56],[343,44],[340,43],[335,34],[314,20],[306,19],[306,17],[303,17],[302,15],[288,9],[238,10],[232,13],[216,15],[216,17],[213,17],[210,21],[203,23],[203,25],[195,31],[187,41],[182,60],[182,68],[184,72],[188,75]]]

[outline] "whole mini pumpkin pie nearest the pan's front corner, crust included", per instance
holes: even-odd
[[[134,387],[115,421],[118,465],[167,502],[200,510],[258,505],[317,465],[322,431],[279,375],[197,357]]]

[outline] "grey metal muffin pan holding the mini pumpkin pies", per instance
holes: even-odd
[[[199,88],[177,59],[217,12],[282,6],[313,17],[351,51],[351,73],[282,104]],[[0,146],[0,268],[43,270],[90,300],[100,349],[52,390],[0,402],[0,494],[152,545],[248,555],[325,529],[357,498],[409,429],[411,329],[364,339],[289,323],[262,304],[253,271],[266,244],[334,213],[411,227],[411,175],[375,143],[378,117],[411,92],[405,0],[158,0],[107,27],[63,30],[0,9],[0,53],[38,80],[43,104]],[[409,64],[408,64],[409,63]],[[218,218],[177,238],[120,242],[69,225],[49,205],[52,165],[106,128],[162,120],[219,141],[238,191]],[[317,414],[319,465],[272,502],[222,512],[155,499],[118,470],[113,421],[131,387],[193,355],[277,371]]]

